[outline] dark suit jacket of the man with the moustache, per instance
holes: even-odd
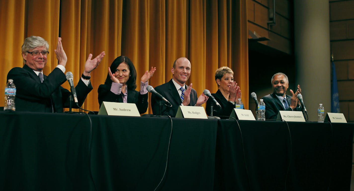
[[[285,95],[286,96],[286,101],[288,102],[290,106],[291,102],[291,96]],[[262,97],[263,102],[265,103],[265,119],[276,119],[278,116],[279,111],[292,111],[290,107],[288,107],[286,110],[284,109],[283,104],[280,102],[278,97],[273,94],[266,95]],[[302,107],[296,107],[294,111],[302,111]]]

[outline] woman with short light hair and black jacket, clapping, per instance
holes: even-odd
[[[229,67],[221,67],[215,71],[215,81],[218,85],[218,91],[215,94],[211,94],[215,100],[221,105],[221,109],[218,106],[213,106],[213,116],[219,116],[221,119],[228,119],[232,110],[235,108],[235,102],[241,98],[240,87],[234,82],[234,72]],[[208,99],[206,102],[205,111],[206,114],[211,113],[212,99]]]

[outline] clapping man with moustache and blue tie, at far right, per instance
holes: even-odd
[[[301,94],[300,85],[292,96],[286,95],[289,88],[289,79],[284,73],[276,73],[272,77],[273,94],[262,97],[265,103],[265,119],[276,119],[279,111],[301,111],[297,94]]]

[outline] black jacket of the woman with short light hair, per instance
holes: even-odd
[[[215,100],[221,105],[221,109],[213,102],[212,99],[208,99],[206,101],[205,111],[207,115],[210,115],[210,107],[211,103],[213,102],[213,116],[230,116],[231,112],[235,108],[231,102],[227,101],[225,97],[222,95],[221,91],[218,90],[215,94],[211,94]],[[229,119],[228,117],[220,117],[221,119]]]

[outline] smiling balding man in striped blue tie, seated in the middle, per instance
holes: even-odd
[[[171,68],[172,79],[155,88],[159,94],[171,103],[172,107],[167,107],[162,103],[160,111],[159,98],[152,94],[151,106],[154,115],[170,115],[171,117],[175,117],[179,106],[201,106],[208,100],[208,97],[204,93],[197,99],[197,92],[192,88],[192,84],[189,86],[185,85],[190,76],[190,68],[191,65],[187,58],[178,58],[173,62],[173,67]]]

